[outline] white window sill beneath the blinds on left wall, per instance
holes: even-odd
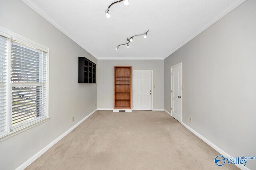
[[[25,127],[21,127],[19,129],[14,129],[14,131],[11,131],[10,133],[6,134],[6,135],[3,135],[0,137],[0,142],[5,140],[5,139],[8,139],[14,135],[17,135],[18,133],[21,133],[23,131],[26,131],[34,126],[37,126],[37,125],[40,125],[41,123],[44,123],[46,121],[48,121],[50,119],[50,117],[45,117],[45,118],[42,118],[42,119],[39,119],[38,121],[36,122],[33,122],[29,125],[26,125]]]

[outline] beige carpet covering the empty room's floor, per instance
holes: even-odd
[[[97,111],[27,170],[223,170],[219,155],[164,111]]]

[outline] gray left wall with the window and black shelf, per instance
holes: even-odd
[[[0,0],[0,26],[50,48],[51,118],[0,142],[0,169],[12,170],[96,109],[97,84],[78,84],[78,57],[97,60],[21,0]]]

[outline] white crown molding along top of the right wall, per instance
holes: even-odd
[[[167,57],[169,57],[170,55],[172,55],[172,53],[174,53],[175,51],[177,51],[178,49],[180,49],[183,45],[185,45],[186,43],[188,43],[189,41],[191,41],[194,37],[196,37],[197,35],[199,35],[200,33],[202,33],[204,30],[206,30],[208,27],[210,27],[212,24],[214,24],[215,22],[217,22],[218,20],[220,20],[222,17],[224,17],[226,14],[228,14],[229,12],[231,12],[232,10],[234,10],[236,7],[238,7],[239,5],[241,5],[244,1],[246,0],[234,0],[231,4],[229,4],[228,6],[226,6],[226,8],[224,8],[224,10],[222,10],[217,16],[215,16],[210,22],[206,23],[205,25],[203,25],[202,27],[198,28],[194,33],[192,33],[185,41],[183,41],[182,43],[180,43],[180,45],[178,45],[177,47],[175,47],[174,49],[172,49],[172,51],[170,52],[170,54],[166,57],[164,57],[164,59],[166,59]]]

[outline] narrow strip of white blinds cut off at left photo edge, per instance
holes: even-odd
[[[7,131],[7,38],[0,36],[0,135]]]

